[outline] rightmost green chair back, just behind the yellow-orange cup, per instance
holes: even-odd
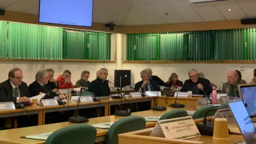
[[[197,109],[196,112],[195,112],[195,114],[193,115],[193,119],[205,117],[207,111],[210,110],[210,109],[213,109],[213,108],[217,108],[217,106],[208,105],[208,106],[204,106],[204,107],[201,107],[201,108]],[[207,116],[213,116],[213,115],[215,115],[216,111],[217,111],[217,110],[209,111],[209,113],[207,114]]]

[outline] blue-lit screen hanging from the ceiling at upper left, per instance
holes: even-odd
[[[39,22],[92,27],[93,0],[39,0]]]

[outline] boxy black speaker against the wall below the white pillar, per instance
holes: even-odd
[[[115,87],[120,87],[120,76],[121,76],[121,87],[131,85],[131,70],[115,70],[114,84]]]

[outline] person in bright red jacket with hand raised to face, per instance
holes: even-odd
[[[74,88],[71,82],[71,72],[69,70],[65,70],[62,75],[59,75],[56,81],[59,82],[59,89]]]

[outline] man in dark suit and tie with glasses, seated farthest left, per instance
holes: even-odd
[[[19,68],[9,71],[8,79],[0,84],[0,102],[28,102],[28,85],[22,82],[23,75]]]

